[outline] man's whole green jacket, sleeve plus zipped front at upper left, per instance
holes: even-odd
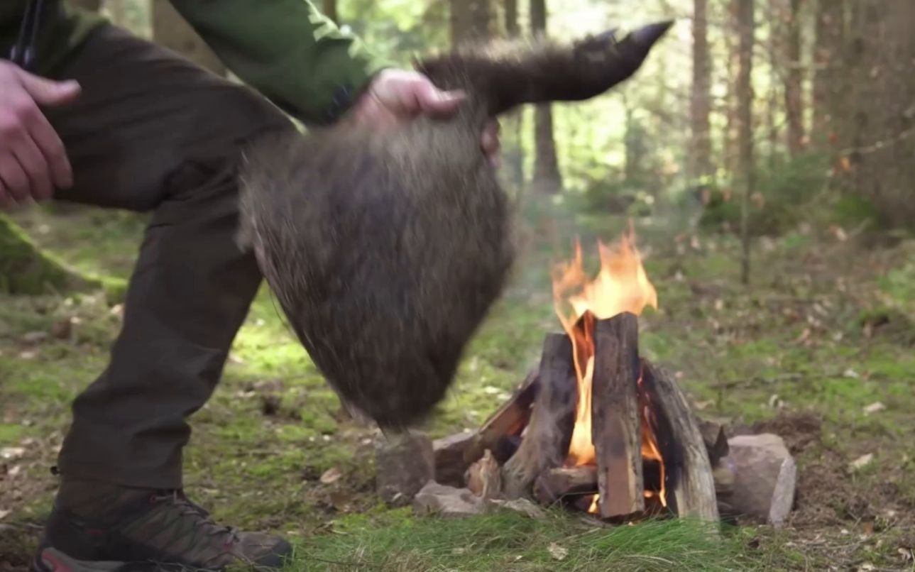
[[[344,34],[308,0],[170,0],[242,81],[305,124],[327,124],[352,103],[371,77],[392,67],[358,38]],[[26,0],[0,0],[0,58],[9,57]],[[61,0],[41,25],[36,71],[59,66],[102,16]]]

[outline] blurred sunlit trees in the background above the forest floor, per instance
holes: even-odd
[[[167,2],[70,1],[231,76]],[[579,211],[686,213],[704,229],[740,234],[747,251],[753,236],[802,222],[834,232],[910,228],[915,106],[903,95],[913,88],[910,3],[546,4],[327,0],[319,7],[404,66],[468,39],[570,39],[676,18],[637,80],[592,102],[543,105],[504,120],[503,175],[519,201],[546,195]],[[5,280],[21,281],[6,266]]]

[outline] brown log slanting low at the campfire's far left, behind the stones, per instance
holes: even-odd
[[[519,438],[524,427],[531,421],[531,405],[537,396],[540,378],[535,370],[528,373],[521,387],[498,411],[480,427],[473,443],[464,451],[464,463],[469,466],[479,460],[486,449],[504,463],[515,452],[512,437]]]

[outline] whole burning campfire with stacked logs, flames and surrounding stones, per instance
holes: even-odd
[[[580,243],[572,260],[555,266],[562,330],[546,334],[539,367],[511,398],[477,431],[438,439],[427,452],[408,442],[399,458],[382,456],[380,490],[415,495],[414,506],[445,513],[464,510],[448,502],[533,499],[606,522],[714,522],[734,508],[737,482],[748,490],[737,508],[783,520],[794,465],[779,437],[734,441],[731,456],[746,468],[737,474],[723,427],[694,416],[673,376],[640,356],[639,317],[659,305],[634,233],[612,245],[598,241],[597,252],[594,277]]]

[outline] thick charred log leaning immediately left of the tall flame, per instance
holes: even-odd
[[[568,454],[575,425],[578,391],[572,342],[548,334],[540,360],[540,388],[521,447],[502,466],[502,491],[509,499],[525,496],[545,469],[560,467]]]

